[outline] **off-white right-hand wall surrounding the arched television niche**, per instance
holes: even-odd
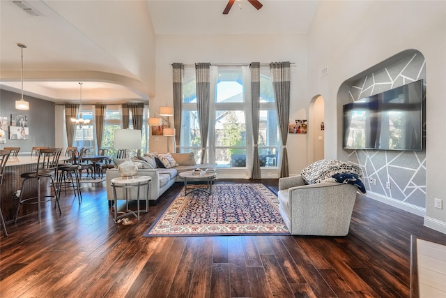
[[[341,146],[341,84],[385,59],[415,49],[426,58],[426,216],[446,233],[446,2],[321,1],[308,34],[309,95],[325,100],[325,157],[346,160]],[[320,77],[328,66],[329,73]],[[433,133],[435,131],[435,133]]]

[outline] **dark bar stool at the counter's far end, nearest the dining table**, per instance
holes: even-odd
[[[67,149],[66,156],[70,159],[67,163],[60,163],[59,165],[57,165],[57,174],[59,176],[57,179],[57,191],[59,198],[61,198],[61,191],[65,191],[65,194],[67,194],[67,191],[73,191],[73,193],[75,193],[75,196],[77,195],[77,200],[80,204],[82,202],[82,193],[79,178],[80,165],[77,165],[75,163],[76,152],[77,148],[72,149],[72,147],[69,147]]]

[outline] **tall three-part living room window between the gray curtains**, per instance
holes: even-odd
[[[261,75],[261,105],[259,126],[259,155],[261,167],[277,166],[279,152],[279,133],[277,112],[274,101],[269,69]],[[247,113],[251,110],[249,100],[245,100],[243,70],[238,68],[220,68],[215,86],[215,100],[210,105],[210,125],[208,150],[217,167],[246,167]],[[194,71],[185,69],[183,85],[183,114],[181,119],[180,151],[193,151],[197,160],[201,158],[201,140],[197,114],[197,94]]]

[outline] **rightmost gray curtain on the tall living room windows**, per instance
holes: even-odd
[[[280,135],[282,136],[282,163],[280,167],[280,177],[288,177],[289,167],[286,142],[288,140],[290,110],[290,63],[289,61],[272,62],[270,63],[270,70],[277,107],[277,118],[279,119]]]

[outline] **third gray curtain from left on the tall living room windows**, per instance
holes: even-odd
[[[260,119],[260,63],[251,64],[251,106],[252,106],[252,139],[254,155],[252,156],[252,179],[261,179],[259,161],[259,119]]]

